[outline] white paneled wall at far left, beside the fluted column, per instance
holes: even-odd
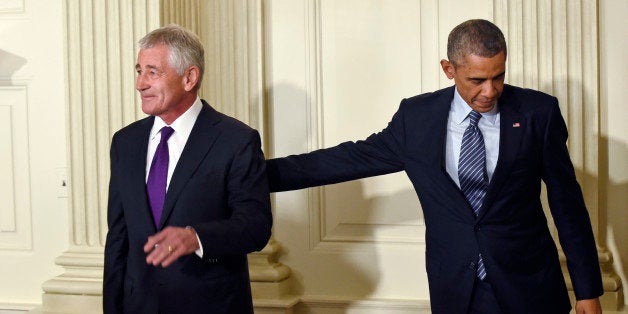
[[[61,1],[0,2],[0,309],[41,303],[68,246],[62,17]]]

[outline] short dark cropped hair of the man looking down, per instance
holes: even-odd
[[[464,56],[474,54],[490,58],[500,52],[506,56],[506,39],[499,27],[487,20],[468,20],[456,26],[447,40],[447,58],[454,65],[462,64]]]

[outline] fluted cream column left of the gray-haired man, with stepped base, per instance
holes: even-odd
[[[159,1],[66,0],[70,247],[64,273],[42,288],[43,311],[102,308],[109,143],[141,116],[134,90],[137,41],[159,25]]]

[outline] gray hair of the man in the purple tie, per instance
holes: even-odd
[[[205,72],[205,49],[196,34],[179,25],[170,24],[146,34],[138,43],[140,49],[160,44],[168,46],[168,62],[179,75],[183,75],[187,68],[197,66],[200,74],[195,88],[200,88]]]

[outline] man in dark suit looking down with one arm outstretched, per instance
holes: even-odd
[[[366,140],[269,160],[271,192],[405,170],[425,217],[434,313],[568,313],[542,180],[576,310],[600,313],[595,240],[557,99],[504,84],[506,42],[491,22],[458,25],[447,55],[455,86],[404,99]]]

